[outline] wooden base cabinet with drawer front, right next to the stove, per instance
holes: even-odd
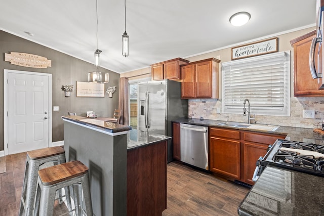
[[[241,165],[241,181],[253,185],[253,173],[256,168],[256,162],[260,156],[267,153],[269,145],[272,145],[277,139],[285,139],[286,135],[271,135],[254,132],[241,133],[243,150],[243,161]]]

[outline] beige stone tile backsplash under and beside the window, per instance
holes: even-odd
[[[216,109],[220,108],[220,114]],[[315,110],[315,119],[303,118],[303,110]],[[273,124],[280,126],[293,126],[304,128],[321,127],[324,118],[323,97],[291,98],[291,116],[256,115],[256,121],[260,124]],[[252,115],[254,114],[251,112]],[[248,117],[242,114],[222,113],[221,99],[192,99],[189,100],[188,114],[192,118],[203,117],[204,119],[247,122]],[[317,126],[318,125],[318,126]]]

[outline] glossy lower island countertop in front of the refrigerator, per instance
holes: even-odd
[[[171,137],[132,129],[132,131],[128,132],[127,139],[127,150],[132,150],[159,143],[161,141],[170,140]]]

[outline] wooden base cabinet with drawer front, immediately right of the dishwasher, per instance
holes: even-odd
[[[210,128],[210,171],[240,179],[239,131]]]

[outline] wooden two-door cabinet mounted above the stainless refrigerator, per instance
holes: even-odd
[[[186,64],[186,59],[176,58],[151,65],[152,80],[181,79],[180,65]]]

